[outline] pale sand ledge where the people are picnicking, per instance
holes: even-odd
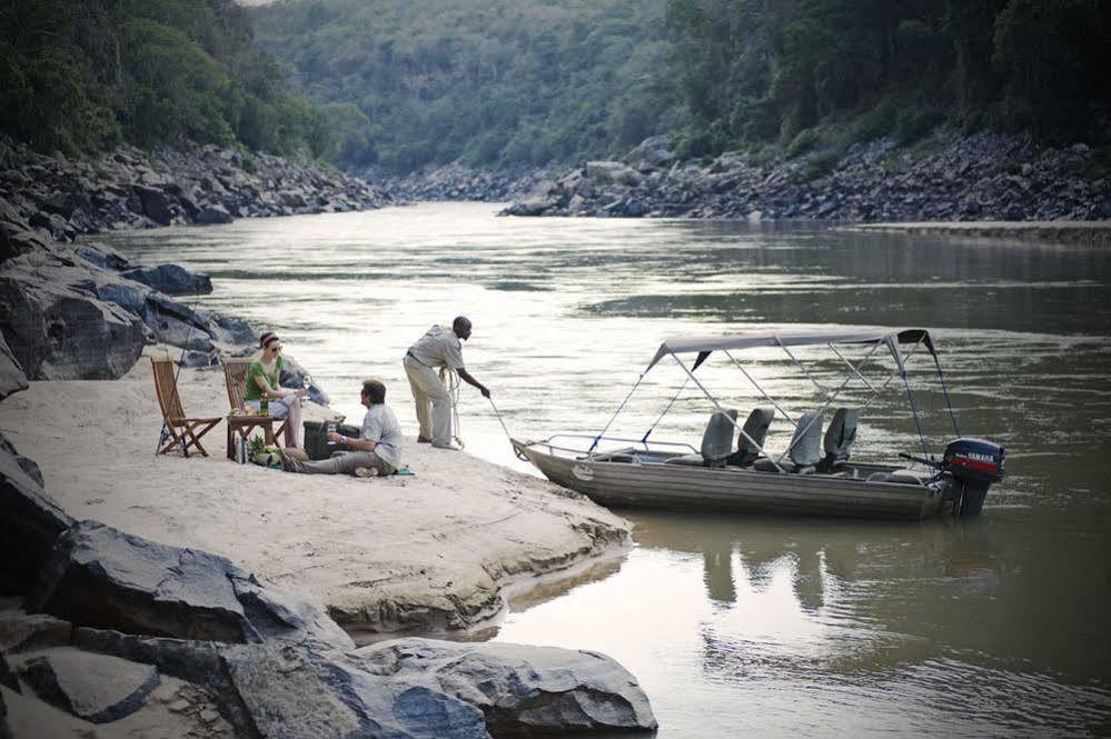
[[[227,412],[222,372],[181,370],[178,388],[191,416]],[[146,358],[117,381],[32,382],[0,403],[73,518],[224,555],[364,631],[470,627],[508,586],[631,546],[631,525],[586,498],[413,438],[414,477],[363,480],[231,462],[222,421],[209,458],[155,458],[160,426]]]

